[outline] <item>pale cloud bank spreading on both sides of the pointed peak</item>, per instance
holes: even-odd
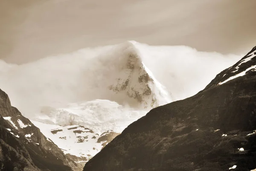
[[[143,64],[167,88],[173,100],[198,93],[216,74],[241,58],[200,52],[188,46],[133,43]],[[20,65],[0,61],[0,87],[9,95],[12,105],[31,118],[43,106],[63,107],[95,99],[119,102],[121,95],[111,93],[108,85],[117,79],[122,58],[134,50],[123,45],[85,48]]]

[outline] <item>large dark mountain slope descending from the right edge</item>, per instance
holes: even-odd
[[[248,57],[250,53],[243,59]],[[197,95],[154,108],[129,125],[86,163],[84,171],[255,169],[256,71],[219,84],[235,75],[235,67],[240,73],[256,65],[256,57],[241,61]]]

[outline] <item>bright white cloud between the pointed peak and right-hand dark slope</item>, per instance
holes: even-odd
[[[145,65],[165,85],[174,100],[193,96],[241,55],[200,52],[189,46],[148,46],[138,43]]]

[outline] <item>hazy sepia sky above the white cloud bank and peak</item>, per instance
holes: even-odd
[[[241,54],[256,46],[256,0],[0,0],[0,58],[135,40]]]

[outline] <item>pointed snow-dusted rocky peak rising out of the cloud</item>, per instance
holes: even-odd
[[[135,99],[144,108],[157,107],[172,101],[166,88],[160,84],[153,73],[143,64],[140,50],[135,41],[120,44],[124,55],[119,60],[121,66],[116,80],[109,86],[115,93],[124,93]]]

